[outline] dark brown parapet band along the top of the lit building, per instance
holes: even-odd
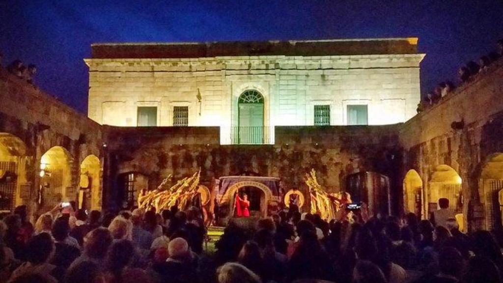
[[[92,58],[98,59],[416,54],[417,38],[94,43],[91,50]]]

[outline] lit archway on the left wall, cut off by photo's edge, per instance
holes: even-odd
[[[0,210],[12,211],[20,199],[19,186],[26,183],[26,146],[12,134],[0,133]]]

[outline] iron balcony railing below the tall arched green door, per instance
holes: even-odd
[[[221,142],[227,145],[266,145],[271,144],[271,127],[221,127]]]

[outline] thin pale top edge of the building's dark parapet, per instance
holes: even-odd
[[[114,42],[97,42],[92,43],[91,46],[119,46],[119,45],[197,45],[197,44],[212,44],[212,43],[254,43],[254,42],[269,42],[269,43],[279,43],[279,42],[289,42],[291,44],[295,44],[297,42],[351,42],[351,41],[402,41],[406,40],[409,44],[417,45],[418,38],[417,37],[390,37],[390,38],[352,38],[352,39],[313,39],[313,40],[264,40],[264,41],[206,41],[206,42],[123,42],[123,43],[114,43]]]

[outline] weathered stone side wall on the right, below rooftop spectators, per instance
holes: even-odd
[[[462,123],[453,128],[453,122]],[[502,134],[503,61],[499,60],[401,127],[402,176],[409,169],[419,173],[427,206],[437,202],[430,183],[435,168],[452,167],[462,179],[465,221],[470,229],[481,227],[482,219],[475,219],[472,206],[485,201],[479,196],[481,170],[491,155],[503,152]]]

